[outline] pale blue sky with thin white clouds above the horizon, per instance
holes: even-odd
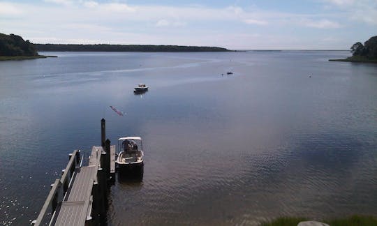
[[[377,36],[377,0],[0,0],[0,33],[32,43],[349,50]]]

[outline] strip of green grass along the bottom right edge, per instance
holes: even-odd
[[[308,218],[281,217],[275,220],[261,223],[261,226],[297,226],[301,221]],[[336,218],[330,220],[317,220],[330,226],[376,226],[377,218],[374,216],[353,215],[347,218]]]

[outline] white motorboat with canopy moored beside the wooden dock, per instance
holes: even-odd
[[[144,174],[144,152],[141,137],[121,137],[118,139],[117,165],[121,174],[139,176]]]

